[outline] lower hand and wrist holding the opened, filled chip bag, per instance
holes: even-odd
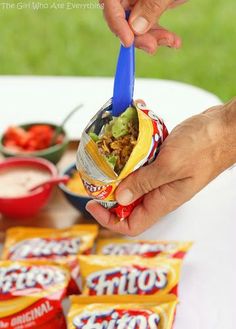
[[[236,162],[236,100],[216,106],[178,125],[163,143],[157,159],[130,174],[117,188],[127,205],[144,196],[127,220],[90,201],[87,210],[104,227],[135,236],[190,200]]]

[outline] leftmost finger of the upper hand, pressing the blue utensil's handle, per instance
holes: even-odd
[[[111,31],[120,38],[125,47],[134,42],[134,34],[126,21],[125,11],[119,0],[102,0],[104,16]]]

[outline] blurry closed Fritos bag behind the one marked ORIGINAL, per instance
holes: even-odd
[[[53,260],[71,271],[68,294],[79,293],[77,255],[89,254],[98,234],[97,225],[75,225],[65,229],[14,227],[7,231],[3,259]]]

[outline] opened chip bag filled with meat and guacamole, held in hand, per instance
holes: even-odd
[[[110,100],[85,128],[77,168],[87,193],[124,219],[138,202],[118,205],[114,191],[130,173],[156,158],[168,131],[162,119],[141,100],[119,117],[113,117],[111,110]]]

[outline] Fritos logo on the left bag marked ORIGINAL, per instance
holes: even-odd
[[[0,268],[0,300],[9,295],[22,295],[44,290],[65,280],[65,273],[50,266],[24,266],[14,264]]]

